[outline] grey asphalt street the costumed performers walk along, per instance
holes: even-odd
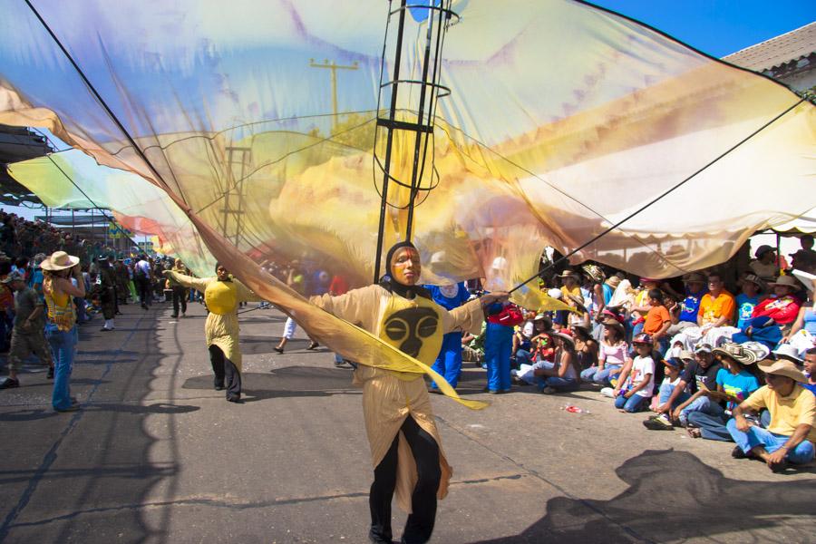
[[[255,305],[248,306],[250,309]],[[202,306],[122,306],[81,327],[76,413],[44,369],[0,392],[0,541],[365,542],[372,479],[351,371],[284,317],[241,316],[243,404],[212,390]],[[461,392],[485,382],[469,366]],[[434,542],[813,542],[816,468],[772,474],[733,444],[649,432],[595,391],[432,402],[454,474]],[[588,413],[569,413],[565,404]],[[394,507],[394,534],[404,514]]]

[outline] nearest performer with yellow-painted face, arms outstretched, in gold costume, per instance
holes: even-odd
[[[311,301],[428,365],[439,355],[442,335],[478,334],[483,306],[508,296],[493,293],[448,311],[416,285],[421,263],[413,244],[394,245],[385,262],[389,276],[379,285],[341,296],[314,296]],[[410,514],[402,541],[426,542],[436,519],[437,498],[447,495],[452,470],[442,452],[422,375],[360,365],[355,384],[363,385],[365,430],[374,464],[369,538],[392,541],[391,501],[396,491],[397,503]]]

